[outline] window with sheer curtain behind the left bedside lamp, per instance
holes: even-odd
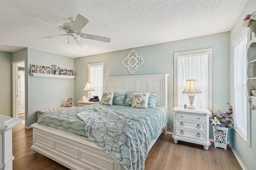
[[[88,82],[92,82],[95,91],[92,91],[92,96],[102,97],[103,78],[105,77],[105,63],[88,64]]]

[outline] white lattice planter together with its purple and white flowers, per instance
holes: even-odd
[[[228,137],[228,128],[234,129],[233,121],[233,109],[230,103],[228,103],[229,109],[227,112],[218,110],[213,112],[212,116],[209,117],[210,123],[213,125],[214,133],[214,147],[220,147],[227,149],[227,137]]]

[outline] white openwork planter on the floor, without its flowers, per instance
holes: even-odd
[[[224,148],[227,150],[228,128],[216,126],[212,127],[214,134],[214,147]]]

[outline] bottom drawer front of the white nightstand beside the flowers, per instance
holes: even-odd
[[[206,133],[202,131],[195,131],[195,130],[188,130],[183,128],[176,128],[176,135],[187,137],[187,138],[193,138],[195,140],[206,140]]]

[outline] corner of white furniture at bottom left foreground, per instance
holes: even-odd
[[[12,128],[22,122],[5,115],[0,115],[0,170],[12,170]]]

